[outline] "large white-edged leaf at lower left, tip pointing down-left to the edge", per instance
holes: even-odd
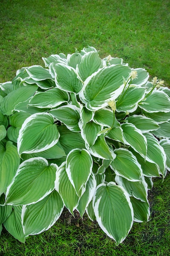
[[[20,164],[7,188],[6,204],[32,204],[49,195],[54,189],[56,164],[42,157],[30,158]]]

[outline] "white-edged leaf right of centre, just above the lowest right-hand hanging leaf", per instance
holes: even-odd
[[[142,176],[142,169],[137,158],[125,148],[118,148],[114,150],[116,158],[110,164],[116,175],[122,176],[129,181],[140,181]]]

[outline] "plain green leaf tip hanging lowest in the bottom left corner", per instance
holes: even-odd
[[[21,223],[21,210],[20,206],[13,207],[13,210],[7,220],[3,223],[7,231],[21,243],[25,243],[25,236]]]

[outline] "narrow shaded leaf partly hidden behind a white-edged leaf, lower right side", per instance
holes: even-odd
[[[145,158],[132,148],[129,149],[133,155],[137,158],[137,161],[141,165],[143,174],[147,177],[160,177],[159,166],[153,162],[148,162]]]

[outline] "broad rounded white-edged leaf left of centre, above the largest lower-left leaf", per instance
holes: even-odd
[[[57,144],[59,136],[52,115],[35,113],[22,124],[18,136],[18,153],[37,153],[49,149]]]

